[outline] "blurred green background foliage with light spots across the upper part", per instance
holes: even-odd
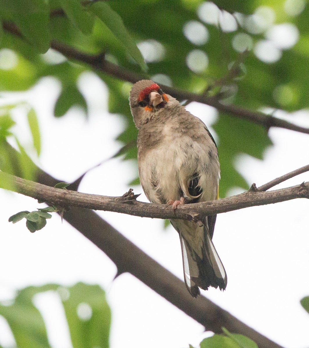
[[[248,110],[267,107],[293,112],[307,107],[309,7],[306,2],[218,0],[214,3],[216,6],[202,0],[0,0],[3,24],[0,89],[26,90],[40,78],[54,76],[62,85],[55,116],[63,116],[73,105],[87,110],[77,80],[82,72],[92,68],[64,57],[53,60],[48,48],[52,40],[57,40],[83,53],[106,53],[106,59],[118,64],[120,69],[161,84],[171,83],[178,89],[209,95],[224,90],[228,94],[225,102]],[[215,9],[212,17],[209,7],[205,10],[209,4]],[[216,19],[218,14],[220,21]],[[10,29],[12,23],[20,34]],[[280,35],[278,39],[273,34],[276,30],[281,30],[281,41]],[[201,32],[204,38],[197,40]],[[243,47],[239,48],[235,42],[242,42]],[[264,51],[258,53],[263,45]],[[245,48],[247,56],[239,59]],[[273,53],[268,62],[267,57],[263,58],[265,52],[266,56]],[[190,55],[195,57],[191,69]],[[229,74],[233,62],[239,64],[239,74],[234,76]],[[128,105],[130,84],[95,72],[108,86],[109,111],[123,115],[126,129],[118,140],[123,145],[131,144],[137,130]],[[32,111],[28,118],[33,145],[39,154],[40,139]],[[236,156],[247,153],[261,159],[271,141],[267,129],[223,113],[218,114],[214,129],[219,136],[220,196],[223,197],[234,186],[248,188],[235,170]],[[5,157],[2,150],[1,157],[2,160]],[[127,146],[124,158],[136,158],[136,147]]]

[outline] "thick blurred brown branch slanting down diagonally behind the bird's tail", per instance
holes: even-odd
[[[9,144],[3,144],[3,146],[14,164],[14,173],[21,175],[22,169],[18,165],[24,163],[21,162],[21,154]],[[32,165],[34,164],[32,163]],[[53,187],[61,181],[54,179],[39,168],[37,168],[37,180],[49,187]],[[2,182],[3,180],[0,180],[0,183]],[[226,327],[232,333],[243,334],[251,338],[259,348],[282,348],[204,296],[200,296],[198,299],[192,298],[181,280],[151,259],[95,212],[73,207],[64,213],[63,218],[115,263],[118,275],[123,272],[134,275],[167,301],[204,325],[206,330],[222,333],[221,327]]]

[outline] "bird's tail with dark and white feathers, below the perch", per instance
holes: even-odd
[[[198,287],[207,290],[209,286],[219,286],[220,290],[225,290],[226,272],[212,243],[207,223],[198,227],[190,221],[175,222],[173,220],[172,224],[178,225],[174,227],[180,236],[184,281],[190,294],[197,297],[200,293]],[[188,228],[191,228],[191,234]]]

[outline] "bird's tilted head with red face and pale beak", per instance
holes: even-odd
[[[151,80],[141,80],[130,91],[130,108],[134,123],[139,129],[148,123],[153,114],[162,111],[170,101],[175,99],[163,93],[159,85]]]

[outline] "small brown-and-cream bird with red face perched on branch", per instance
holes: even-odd
[[[129,105],[138,129],[138,174],[149,201],[176,209],[218,199],[218,150],[205,124],[151,80],[133,85]],[[199,288],[225,290],[226,271],[212,243],[216,215],[170,222],[180,237],[189,293],[196,298]]]

